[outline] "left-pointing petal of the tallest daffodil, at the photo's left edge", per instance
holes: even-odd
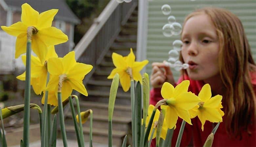
[[[17,22],[11,26],[1,26],[1,28],[12,36],[19,36],[20,34],[27,33],[27,26],[22,22]]]

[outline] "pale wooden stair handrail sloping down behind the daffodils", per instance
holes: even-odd
[[[106,8],[100,13],[99,17],[95,19],[94,24],[89,28],[87,33],[82,37],[82,39],[77,43],[75,46],[75,59],[77,60],[82,53],[86,50],[89,46],[91,41],[97,35],[103,24],[106,23],[108,18],[111,16],[113,11],[117,8],[118,3],[116,0],[111,0]]]

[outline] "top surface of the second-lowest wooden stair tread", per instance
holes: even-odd
[[[69,112],[67,114],[67,117],[72,118],[72,113]],[[108,116],[107,115],[93,115],[93,120],[99,120],[99,121],[106,121],[108,122]],[[118,123],[130,123],[132,121],[131,117],[112,117],[112,122],[118,122]]]

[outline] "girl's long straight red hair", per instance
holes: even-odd
[[[248,125],[255,122],[256,99],[250,72],[256,66],[240,19],[221,8],[201,8],[189,14],[186,21],[200,14],[206,14],[216,28],[220,42],[219,68],[226,88],[223,96],[225,127],[229,134],[241,135],[241,129],[250,134]],[[182,57],[180,57],[183,61]],[[182,70],[182,74],[186,73]]]

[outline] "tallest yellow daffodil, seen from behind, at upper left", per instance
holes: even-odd
[[[26,53],[27,29],[35,27],[36,31],[32,35],[32,50],[39,57],[41,63],[44,62],[47,54],[47,47],[68,41],[68,36],[60,29],[52,27],[52,21],[58,9],[51,9],[38,13],[29,4],[21,6],[21,22],[11,26],[1,26],[1,28],[12,36],[16,36],[15,58]]]

